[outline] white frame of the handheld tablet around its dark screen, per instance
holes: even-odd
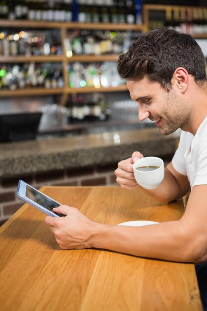
[[[57,214],[53,212],[53,208],[59,207],[61,203],[48,197],[46,194],[30,186],[23,180],[19,180],[16,194],[19,199],[29,203],[30,205],[36,207],[38,210],[49,216],[53,217],[66,216],[63,214]]]

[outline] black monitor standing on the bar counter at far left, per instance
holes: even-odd
[[[35,139],[42,112],[0,115],[0,143]]]

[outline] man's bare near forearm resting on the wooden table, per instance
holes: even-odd
[[[199,260],[179,221],[144,227],[94,225],[91,247],[163,260]]]

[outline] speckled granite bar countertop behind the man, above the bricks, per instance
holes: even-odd
[[[134,151],[144,156],[170,155],[177,138],[179,132],[163,136],[158,128],[146,128],[0,144],[0,178],[118,162]]]

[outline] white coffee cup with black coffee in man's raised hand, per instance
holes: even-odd
[[[151,166],[151,169],[152,166],[157,166],[157,168],[148,171],[140,170],[140,167],[145,166]],[[133,164],[133,170],[138,184],[145,189],[156,188],[164,178],[164,162],[161,158],[156,156],[146,156],[138,159]]]

